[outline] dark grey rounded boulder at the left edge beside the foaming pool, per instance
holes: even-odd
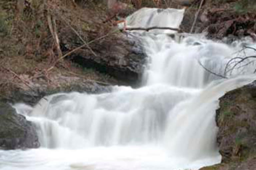
[[[0,148],[24,149],[40,146],[35,126],[9,104],[0,102]]]

